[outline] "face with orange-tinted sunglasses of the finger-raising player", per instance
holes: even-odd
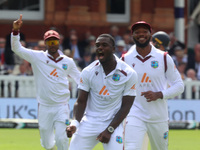
[[[45,45],[48,49],[49,54],[53,55],[53,54],[57,53],[57,51],[58,51],[59,40],[55,37],[48,38],[45,41]]]

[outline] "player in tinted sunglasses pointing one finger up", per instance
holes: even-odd
[[[47,49],[35,51],[23,47],[19,42],[19,29],[22,26],[22,15],[13,22],[11,34],[12,50],[31,63],[36,82],[37,101],[39,103],[38,122],[41,145],[47,150],[68,149],[66,122],[69,122],[70,99],[67,76],[76,82],[80,80],[74,61],[58,50],[59,34],[49,30],[44,34]],[[54,133],[55,130],[55,133]]]

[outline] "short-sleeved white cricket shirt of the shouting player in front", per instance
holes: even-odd
[[[123,96],[136,96],[137,73],[117,57],[116,61],[116,68],[108,75],[98,60],[83,69],[78,88],[89,92],[86,115],[104,121],[112,119]]]

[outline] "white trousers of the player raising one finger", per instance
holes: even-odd
[[[38,123],[41,137],[41,145],[46,150],[52,149],[55,145],[57,150],[67,150],[69,139],[66,135],[66,120],[69,120],[69,106],[39,105]]]

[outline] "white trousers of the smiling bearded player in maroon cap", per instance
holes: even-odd
[[[124,150],[141,150],[146,133],[152,150],[168,150],[168,121],[149,123],[134,116],[126,118]]]

